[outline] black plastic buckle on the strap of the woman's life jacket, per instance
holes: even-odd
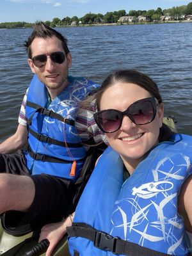
[[[95,233],[94,246],[99,248],[100,250],[110,251],[116,254],[115,251],[116,251],[117,239],[119,238],[113,237],[107,233],[98,231]]]

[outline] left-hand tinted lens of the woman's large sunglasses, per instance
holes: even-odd
[[[104,132],[115,132],[120,128],[121,119],[118,111],[106,110],[97,116],[97,124]]]

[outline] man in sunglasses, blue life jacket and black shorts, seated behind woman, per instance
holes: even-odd
[[[68,215],[72,184],[86,156],[74,126],[78,102],[99,86],[68,76],[67,40],[43,22],[36,22],[25,46],[35,76],[17,131],[0,145],[0,214],[6,212],[3,226],[15,233]],[[26,152],[10,155],[27,143]]]

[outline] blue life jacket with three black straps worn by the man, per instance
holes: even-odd
[[[32,174],[47,173],[76,180],[83,166],[86,148],[81,145],[74,120],[78,103],[99,84],[84,77],[68,76],[68,86],[49,101],[47,88],[36,75],[29,86],[26,104],[28,118],[27,166]],[[72,163],[76,161],[76,172]]]

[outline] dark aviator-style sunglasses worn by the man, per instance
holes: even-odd
[[[54,63],[61,64],[65,61],[65,54],[63,52],[52,52],[49,56]],[[43,67],[45,65],[45,62],[47,61],[47,55],[37,55],[33,57],[32,61],[36,67]]]

